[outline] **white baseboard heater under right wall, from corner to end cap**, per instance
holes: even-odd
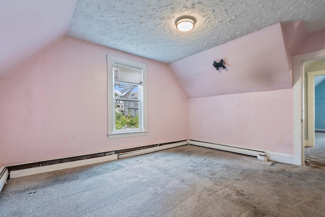
[[[189,140],[189,144],[190,145],[197,145],[197,146],[207,147],[207,148],[218,149],[218,150],[223,150],[223,151],[241,153],[241,154],[245,154],[245,155],[248,155],[248,156],[254,156],[254,157],[257,157],[257,158],[259,156],[265,156],[264,151],[256,151],[256,150],[251,150],[251,149],[238,148],[238,147],[233,147],[233,146],[228,146],[228,145],[219,145],[219,144],[208,143],[208,142],[200,142],[200,141],[195,141],[195,140]],[[261,157],[259,157],[259,158],[261,158]],[[261,160],[261,159],[259,159],[259,160]]]

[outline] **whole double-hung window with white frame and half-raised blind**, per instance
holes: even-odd
[[[147,135],[147,66],[107,56],[108,138]]]

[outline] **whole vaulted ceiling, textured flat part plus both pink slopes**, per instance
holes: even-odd
[[[323,0],[0,0],[0,78],[69,36],[170,64],[190,98],[290,88],[288,49],[325,28],[324,8]],[[182,15],[197,20],[187,33],[175,27]],[[221,58],[227,68],[216,71]]]

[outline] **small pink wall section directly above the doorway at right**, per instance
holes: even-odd
[[[325,49],[325,29],[308,34],[303,42],[293,51],[293,55],[310,53]]]

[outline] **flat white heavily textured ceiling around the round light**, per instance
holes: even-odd
[[[173,63],[277,22],[302,20],[308,33],[325,28],[324,0],[77,0],[68,36]],[[194,16],[188,33],[175,27]]]

